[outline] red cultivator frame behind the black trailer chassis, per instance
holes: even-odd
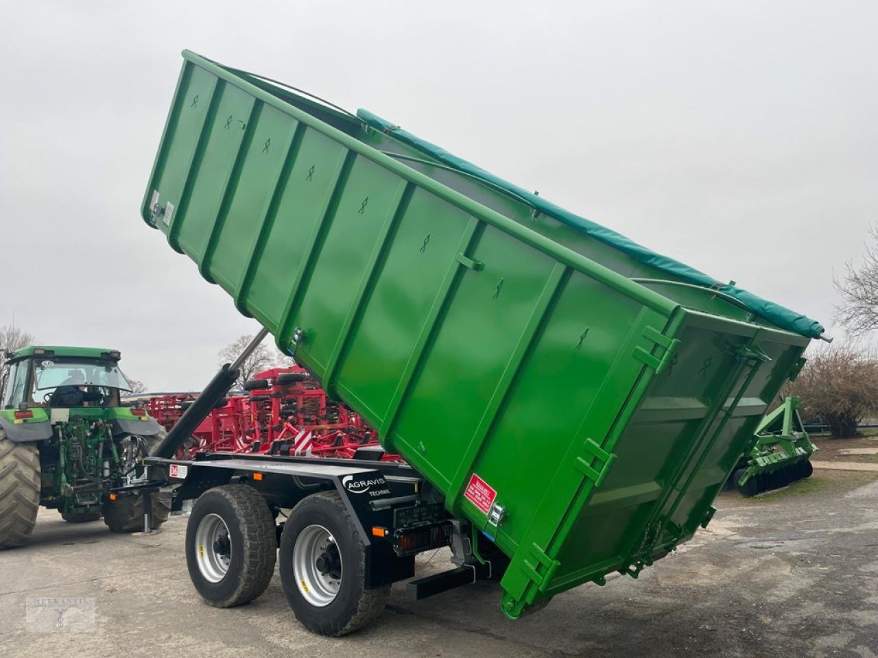
[[[305,368],[266,370],[244,389],[213,409],[180,448],[179,458],[201,451],[351,458],[360,448],[378,446],[375,431],[347,406],[327,397]],[[170,429],[194,398],[191,393],[150,397],[149,413]]]

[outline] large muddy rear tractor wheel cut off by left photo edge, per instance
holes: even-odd
[[[0,430],[0,548],[21,546],[31,536],[40,508],[40,452],[15,443]]]

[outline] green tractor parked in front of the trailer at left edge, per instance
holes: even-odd
[[[23,347],[0,374],[0,548],[24,544],[40,505],[70,523],[101,517],[113,532],[168,519],[143,458],[165,435],[148,413],[120,404],[131,390],[120,354],[97,347]],[[153,488],[155,489],[155,488]],[[144,494],[147,495],[144,495]]]

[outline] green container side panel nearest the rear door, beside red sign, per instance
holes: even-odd
[[[511,544],[527,530],[546,482],[559,468],[574,471],[567,454],[601,387],[623,352],[628,336],[619,327],[637,322],[640,304],[615,297],[603,284],[572,273],[547,314],[536,344],[529,349],[493,429],[483,440],[475,471],[498,491],[507,509],[501,540]],[[632,358],[630,354],[623,354]],[[633,361],[633,358],[632,358]],[[629,387],[633,378],[628,382]],[[600,426],[588,438],[602,443]],[[579,448],[575,446],[574,448]],[[581,478],[582,474],[577,472]],[[569,502],[579,482],[566,491]],[[557,493],[559,500],[564,493]],[[554,510],[562,514],[563,510]]]

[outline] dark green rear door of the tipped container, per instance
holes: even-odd
[[[809,342],[684,313],[672,361],[639,402],[631,400],[630,421],[604,444],[615,455],[606,480],[580,490],[551,536],[531,535],[558,562],[545,593],[600,583],[619,569],[636,572],[691,537]]]

